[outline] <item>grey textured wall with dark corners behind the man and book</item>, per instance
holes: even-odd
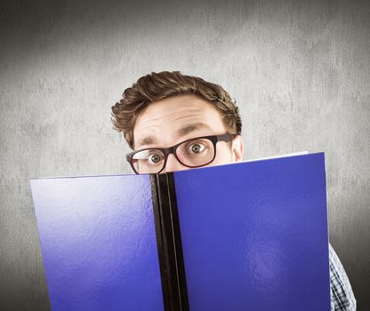
[[[151,71],[221,84],[245,158],[325,151],[330,240],[370,306],[370,2],[2,1],[0,309],[48,309],[28,180],[129,172],[110,107]]]

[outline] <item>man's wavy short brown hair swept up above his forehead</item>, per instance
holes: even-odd
[[[168,97],[194,94],[211,104],[221,113],[230,134],[241,133],[242,122],[236,101],[220,85],[206,82],[197,76],[184,76],[180,71],[152,72],[141,76],[132,87],[125,89],[123,98],[112,107],[112,123],[117,132],[124,132],[125,140],[133,146],[133,128],[137,117],[150,103]]]

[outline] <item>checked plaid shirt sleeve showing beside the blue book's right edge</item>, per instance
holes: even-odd
[[[339,260],[332,245],[329,244],[329,267],[330,267],[330,295],[332,310],[355,311],[356,299],[353,295],[350,281],[341,260]]]

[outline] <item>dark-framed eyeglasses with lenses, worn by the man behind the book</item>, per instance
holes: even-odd
[[[218,141],[229,142],[234,137],[235,135],[226,133],[181,141],[169,148],[145,148],[127,154],[126,160],[137,174],[163,171],[170,154],[173,154],[182,165],[197,168],[213,162]]]

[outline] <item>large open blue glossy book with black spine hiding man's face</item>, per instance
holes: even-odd
[[[330,310],[323,153],[31,179],[52,310]]]

